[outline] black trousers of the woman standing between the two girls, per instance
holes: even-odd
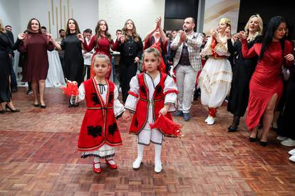
[[[130,80],[133,76],[136,75],[138,71],[138,63],[131,63],[127,65],[127,63],[120,62],[119,64],[119,78],[120,78],[120,87],[122,89],[122,97],[123,102],[126,102],[128,97],[128,91],[130,89]]]

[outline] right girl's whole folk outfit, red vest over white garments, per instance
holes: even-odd
[[[162,133],[158,129],[150,129],[159,116],[164,104],[171,104],[169,111],[175,111],[177,87],[169,75],[159,72],[155,80],[143,72],[130,81],[130,92],[125,102],[125,108],[135,112],[130,126],[130,133],[138,135],[138,143],[149,145],[162,144]],[[168,112],[165,116],[171,119]]]

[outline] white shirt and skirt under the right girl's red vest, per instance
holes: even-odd
[[[146,85],[148,86],[148,90],[149,90],[148,94],[150,99],[150,105],[148,106],[148,121],[143,127],[143,130],[140,131],[140,133],[137,135],[138,143],[143,145],[149,145],[151,141],[152,143],[157,143],[159,145],[162,145],[162,138],[163,138],[162,132],[160,132],[158,129],[150,129],[150,124],[154,123],[154,119],[152,116],[152,111],[153,111],[152,96],[155,92],[155,87],[157,87],[157,85],[160,82],[160,72],[157,75],[157,77],[155,77],[155,80],[152,80],[152,77],[148,75],[148,73],[145,73],[144,77],[145,77]],[[169,75],[167,75],[164,85],[165,85],[164,93],[167,92],[167,90],[172,90],[172,89],[177,90],[177,86],[174,80]],[[130,91],[134,92],[135,94],[139,94],[140,87],[139,87],[137,75],[135,75],[130,81]],[[166,94],[165,104],[171,104],[170,109],[168,111],[176,110],[176,101],[177,101],[177,94],[175,92]],[[125,102],[125,108],[130,109],[130,111],[135,111],[137,104],[138,104],[138,98],[129,94]]]

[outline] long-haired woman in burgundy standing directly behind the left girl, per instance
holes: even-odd
[[[95,48],[93,57],[98,53],[102,53],[110,58],[110,62],[112,61],[112,58],[110,57],[110,49],[118,50],[120,45],[118,40],[116,40],[114,43],[110,33],[108,33],[108,23],[106,23],[105,20],[98,21],[98,24],[95,27],[95,36],[91,38],[89,45],[87,45],[87,42],[84,40],[81,34],[79,34],[79,40],[81,40],[83,47],[87,52],[90,52],[93,48]],[[110,79],[111,72],[112,69],[110,67],[108,75],[106,76],[108,80]],[[93,77],[94,75],[93,69],[90,69],[90,76]]]

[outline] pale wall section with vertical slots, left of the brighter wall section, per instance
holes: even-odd
[[[61,16],[60,16],[60,2],[61,2]],[[68,5],[69,2],[69,5]],[[57,31],[60,28],[66,28],[64,23],[63,6],[66,6],[66,22],[68,16],[75,18],[78,22],[81,31],[86,28],[94,30],[96,22],[98,21],[98,0],[53,0],[53,13],[52,17],[52,6],[50,0],[26,0],[20,1],[19,6],[21,7],[21,28],[26,29],[28,21],[31,18],[38,18],[41,26],[46,26],[49,33],[49,21],[48,11],[51,14],[51,34],[54,38],[57,36]],[[68,14],[69,7],[69,14]],[[56,8],[58,10],[58,26],[56,26]],[[73,11],[72,11],[73,10]],[[62,18],[62,20],[61,20]],[[54,25],[53,25],[54,20]]]

